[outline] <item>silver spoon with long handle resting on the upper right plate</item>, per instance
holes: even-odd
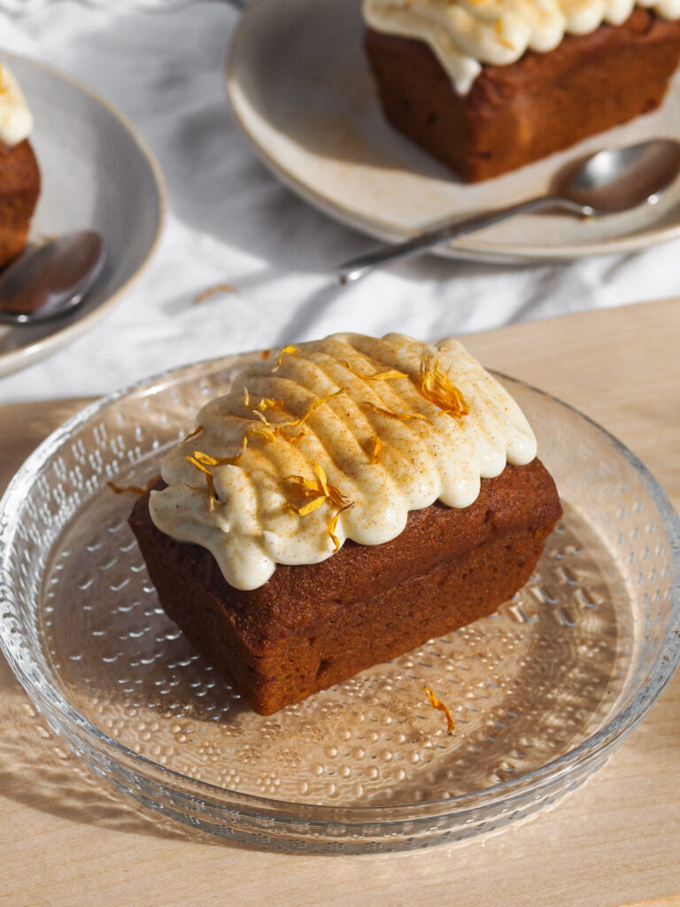
[[[621,213],[645,201],[655,202],[678,172],[680,142],[675,139],[654,139],[626,148],[599,151],[578,162],[576,169],[572,167],[567,174],[561,174],[555,190],[547,195],[425,230],[414,239],[352,258],[340,265],[337,277],[341,284],[351,283],[387,262],[408,258],[439,246],[447,239],[490,227],[528,211],[561,208],[586,217]]]

